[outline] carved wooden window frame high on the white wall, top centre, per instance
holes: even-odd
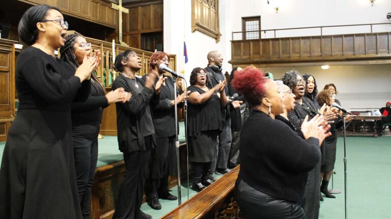
[[[191,32],[198,30],[220,41],[218,0],[191,0]]]

